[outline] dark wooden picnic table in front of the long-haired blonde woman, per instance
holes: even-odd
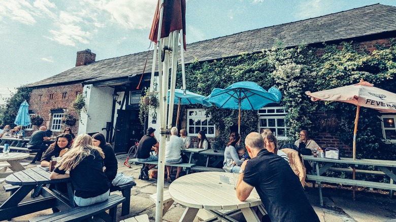
[[[73,190],[70,178],[50,179],[51,173],[43,167],[32,167],[26,170],[15,172],[6,177],[6,182],[12,185],[21,186],[0,206],[0,220],[11,219],[13,217],[34,213],[37,211],[57,207],[59,210],[74,207]],[[22,200],[38,185],[57,184],[67,182],[68,196],[65,197],[54,189],[43,187],[43,198],[22,202]]]

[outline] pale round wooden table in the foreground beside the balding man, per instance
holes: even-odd
[[[220,176],[229,178],[230,184],[220,181]],[[199,209],[206,209],[221,220],[235,221],[219,210],[240,209],[246,221],[260,221],[253,207],[261,205],[255,190],[245,201],[238,200],[232,173],[200,172],[177,178],[169,186],[173,200],[186,207],[179,221],[193,221]]]

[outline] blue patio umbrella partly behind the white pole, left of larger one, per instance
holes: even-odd
[[[190,105],[190,104],[202,104],[205,106],[212,106],[209,102],[205,101],[205,96],[190,92],[185,90],[186,95],[184,95],[184,90],[176,89],[175,90],[175,101],[174,104],[178,103],[177,107],[177,118],[176,118],[176,126],[179,124],[179,113],[180,113],[180,105]],[[168,104],[170,99],[170,91],[168,90]]]

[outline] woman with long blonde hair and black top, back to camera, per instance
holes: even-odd
[[[109,198],[110,182],[104,173],[102,149],[92,145],[87,134],[78,135],[70,151],[58,161],[50,179],[72,179],[75,189],[74,202],[88,206]],[[66,173],[69,170],[70,173]]]

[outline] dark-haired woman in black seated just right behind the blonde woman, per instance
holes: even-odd
[[[111,147],[110,143],[106,142],[105,136],[102,133],[96,133],[92,136],[92,145],[101,147],[103,153],[105,153],[105,159],[103,160],[106,167],[105,175],[109,178],[110,182],[113,181],[118,169],[118,162],[113,147]]]

